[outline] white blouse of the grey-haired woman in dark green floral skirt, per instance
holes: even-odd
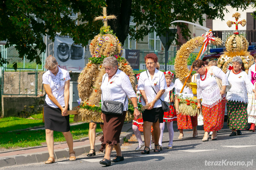
[[[252,89],[254,89],[254,87],[249,80],[247,73],[242,71],[236,75],[232,70],[230,70],[226,75],[228,76],[228,81],[231,84],[231,88],[227,92],[227,100],[248,103],[247,93],[252,93]]]

